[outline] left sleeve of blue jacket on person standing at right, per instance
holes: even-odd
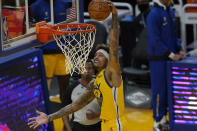
[[[147,27],[149,35],[149,48],[157,50],[160,55],[169,55],[170,51],[161,40],[162,22],[156,13],[152,13],[147,18]]]

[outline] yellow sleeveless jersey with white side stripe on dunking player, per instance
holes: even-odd
[[[123,81],[121,81],[120,87],[112,87],[105,77],[104,69],[97,75],[94,86],[95,96],[102,99],[100,118],[112,120],[124,116]]]

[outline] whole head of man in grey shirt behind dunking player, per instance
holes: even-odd
[[[92,80],[92,76],[95,73],[93,61],[88,59],[86,61],[85,68],[86,68],[86,72],[81,74],[81,78],[90,81]]]

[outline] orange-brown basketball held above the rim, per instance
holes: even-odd
[[[103,21],[109,16],[111,10],[106,0],[92,0],[88,5],[88,12],[92,19]]]

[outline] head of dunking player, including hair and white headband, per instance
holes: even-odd
[[[109,60],[109,47],[105,44],[99,44],[96,47],[96,53],[94,55],[94,67],[100,71],[107,67]]]

